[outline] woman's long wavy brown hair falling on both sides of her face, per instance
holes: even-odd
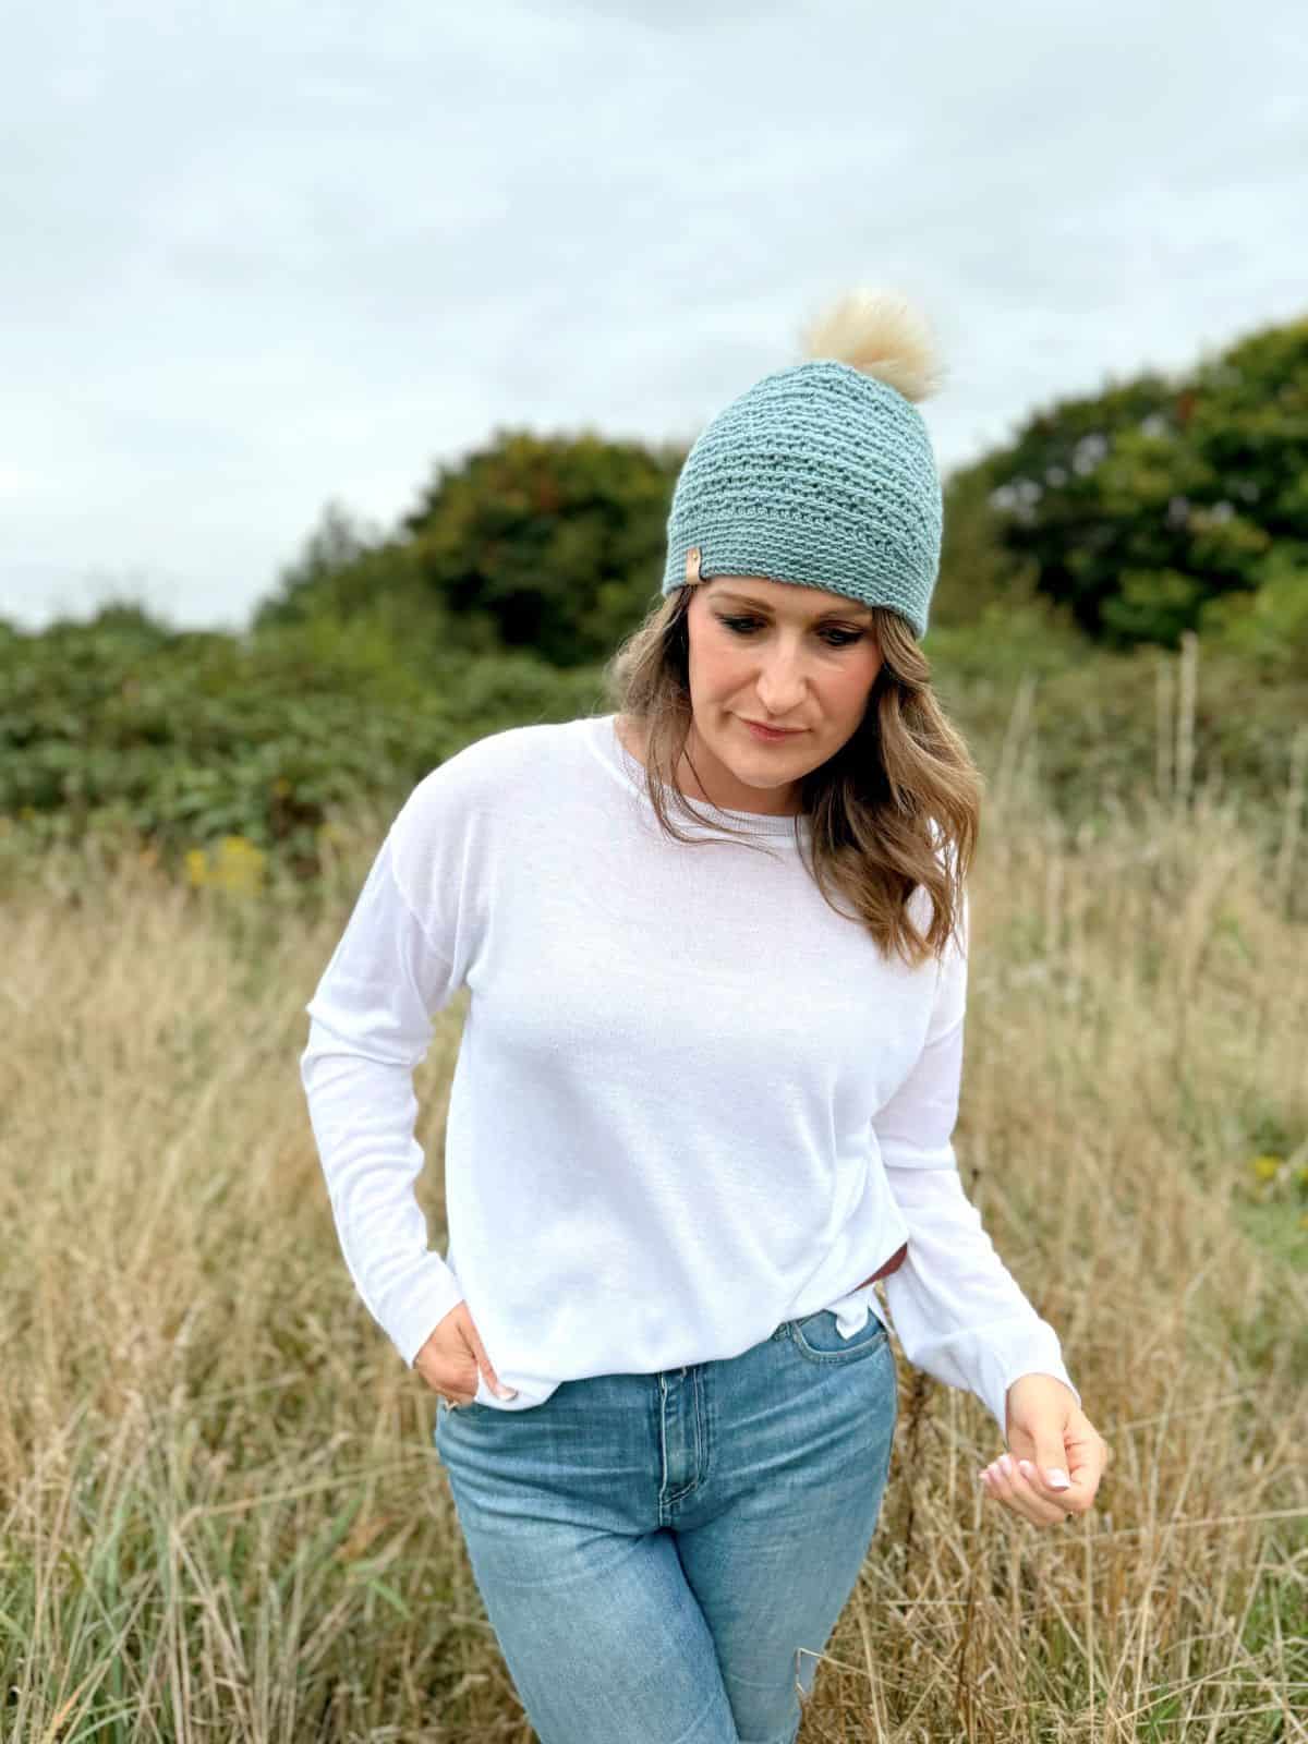
[[[684,835],[670,807],[671,797],[703,821],[673,780],[692,724],[692,586],[656,603],[603,666],[607,699],[645,736],[645,787],[659,825],[687,844],[706,841]],[[874,607],[872,635],[882,661],[863,719],[834,757],[800,778],[811,825],[806,865],[837,914],[849,917],[834,900],[842,895],[886,956],[898,952],[917,968],[944,952],[963,917],[984,778],[931,691],[931,666],[910,624]],[[736,834],[726,821],[722,830]],[[746,844],[769,851],[757,837]],[[919,889],[931,898],[924,931],[910,912]]]

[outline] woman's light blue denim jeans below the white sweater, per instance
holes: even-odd
[[[794,1744],[898,1418],[884,1325],[436,1406],[473,1575],[541,1744]]]

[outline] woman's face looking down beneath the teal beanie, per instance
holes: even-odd
[[[762,576],[701,581],[687,609],[689,750],[717,806],[792,816],[799,780],[853,738],[881,670],[872,612]],[[794,727],[762,739],[746,726]]]

